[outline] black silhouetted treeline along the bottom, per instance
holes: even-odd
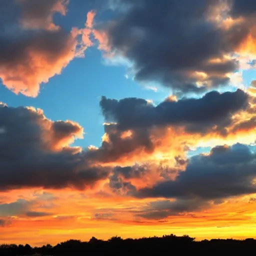
[[[89,241],[70,239],[55,246],[50,244],[41,247],[30,245],[1,244],[0,256],[16,255],[53,255],[53,256],[82,256],[82,255],[231,255],[255,253],[256,240],[247,238],[211,239],[195,241],[188,235],[163,235],[162,237],[142,237],[138,239],[122,239],[114,236],[108,240],[92,237]]]

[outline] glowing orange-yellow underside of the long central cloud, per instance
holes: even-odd
[[[182,125],[153,127],[148,129],[147,142],[137,139],[140,133],[136,130],[118,133],[110,129],[103,134],[101,147],[89,149],[89,155],[94,162],[110,166],[153,162],[174,167],[176,156],[185,159],[187,152],[196,147],[252,143],[256,127],[254,116],[247,110],[234,114],[232,123],[225,127],[224,133],[214,126],[205,133],[189,132]]]

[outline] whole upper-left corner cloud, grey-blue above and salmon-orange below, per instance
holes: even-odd
[[[77,37],[82,33],[83,40],[89,41],[89,34],[54,24],[53,15],[65,15],[67,3],[9,0],[0,4],[0,79],[14,93],[35,97],[41,83],[90,46]]]

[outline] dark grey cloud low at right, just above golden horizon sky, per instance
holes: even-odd
[[[160,209],[168,210],[169,215],[195,211],[211,200],[219,202],[230,196],[255,193],[255,170],[256,155],[246,145],[218,146],[212,148],[209,155],[191,157],[185,171],[181,171],[175,180],[159,182],[135,194],[138,197],[173,198],[174,201],[165,201]],[[145,214],[154,212],[157,207],[150,208]]]

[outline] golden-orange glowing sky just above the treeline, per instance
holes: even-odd
[[[200,212],[169,216],[162,221],[140,220],[132,216],[154,199],[113,198],[107,195],[102,198],[100,194],[91,196],[90,193],[70,189],[48,192],[56,196],[50,202],[52,205],[47,205],[52,215],[11,216],[8,227],[1,230],[2,242],[26,243],[29,239],[32,245],[39,245],[56,244],[69,238],[89,240],[92,236],[108,239],[113,235],[127,238],[170,233],[188,234],[197,239],[255,237],[253,199],[256,197],[229,199]],[[32,200],[35,194],[42,195],[45,191],[35,191],[34,195],[31,195],[31,189],[13,191],[10,201],[20,198],[20,194],[23,199]],[[37,207],[45,209],[47,201],[36,203]]]

